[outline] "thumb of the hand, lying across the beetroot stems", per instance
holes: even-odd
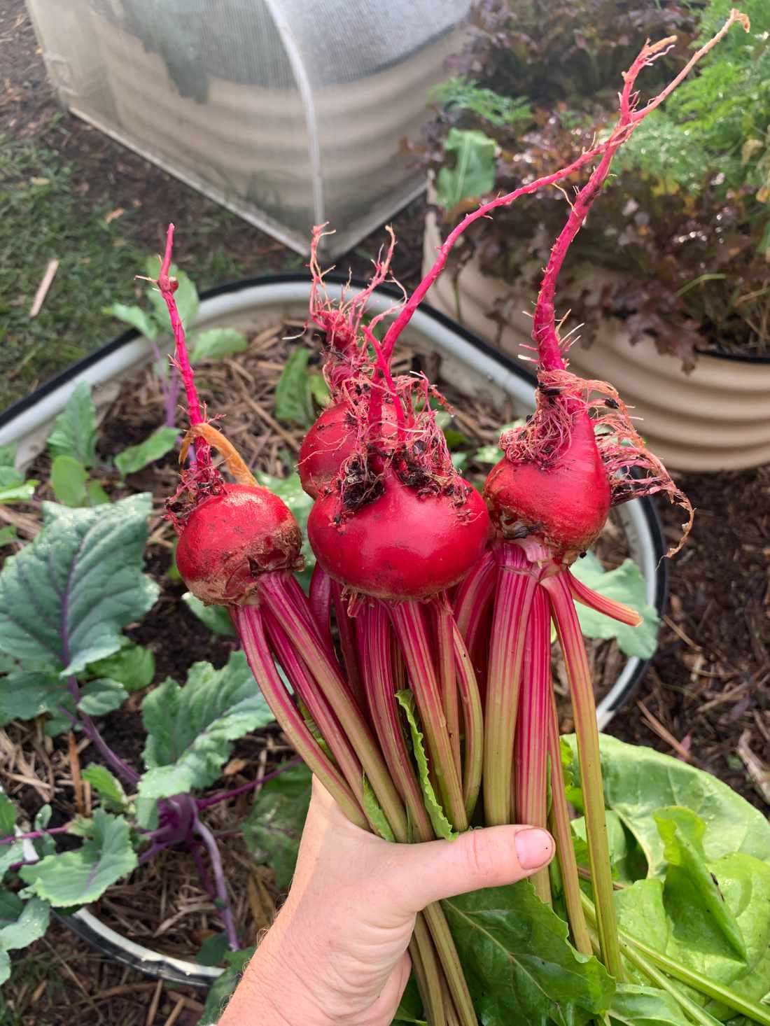
[[[537,827],[468,830],[454,840],[390,847],[388,892],[405,912],[482,887],[498,887],[530,876],[553,857],[553,838]]]

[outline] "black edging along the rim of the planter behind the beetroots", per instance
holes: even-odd
[[[345,275],[330,274],[325,276],[324,280],[337,285],[349,283],[353,288],[363,288],[367,285],[367,282],[361,278],[348,278]],[[215,299],[216,297],[227,295],[231,292],[239,292],[245,288],[253,288],[260,285],[276,285],[286,283],[304,283],[309,285],[310,279],[307,274],[303,274],[301,272],[262,275],[255,278],[242,278],[238,281],[227,282],[226,284],[217,285],[215,288],[202,291],[200,293],[200,300],[203,302],[205,300]],[[400,300],[402,298],[402,293],[392,285],[380,285],[377,291],[382,294],[392,295],[395,300]],[[422,304],[420,306],[420,311],[423,314],[427,314],[432,320],[435,320],[444,327],[451,329],[457,336],[464,339],[478,352],[482,352],[494,359],[495,362],[497,362],[505,370],[510,371],[517,378],[532,383],[533,386],[535,385],[536,382],[534,374],[526,371],[518,360],[513,359],[507,353],[503,353],[494,346],[491,346],[488,342],[479,339],[477,336],[473,334],[472,331],[468,331],[467,328],[456,323],[456,321],[440,311],[434,310],[428,304]],[[28,409],[33,408],[41,399],[49,395],[55,389],[61,388],[61,386],[66,385],[75,378],[78,378],[88,367],[93,366],[106,357],[110,356],[112,353],[120,350],[123,346],[141,338],[143,337],[140,331],[134,328],[128,328],[128,330],[123,331],[122,334],[119,334],[116,339],[113,339],[111,342],[108,342],[99,349],[95,349],[92,353],[84,356],[76,363],[71,364],[65,370],[61,371],[61,373],[55,374],[49,381],[45,382],[30,395],[17,400],[4,412],[0,413],[0,427],[10,424],[16,417],[24,413]],[[742,357],[734,356],[729,358],[743,359]],[[758,359],[765,360],[765,358]],[[766,362],[770,362],[770,358],[767,358]],[[651,499],[642,499],[639,501],[639,504],[649,527],[650,537],[655,548],[655,560],[657,564],[655,575],[655,606],[657,608],[658,616],[662,618],[668,600],[668,571],[665,561],[663,560],[666,547],[663,540],[662,524],[657,508]],[[626,688],[621,695],[618,696],[617,702],[612,706],[612,708],[607,710],[610,715],[614,715],[636,694],[649,665],[649,659],[640,660],[637,670],[628,681]],[[183,963],[186,963],[190,964],[191,970],[197,969],[194,962],[185,962],[185,959],[178,958],[166,959],[162,955],[156,956],[152,960],[144,959],[134,954],[132,951],[125,950],[115,941],[105,937],[87,920],[74,918],[72,916],[62,916],[62,918],[74,933],[88,941],[93,947],[102,951],[103,954],[126,965],[130,965],[146,975],[162,978],[171,983],[184,983],[188,986],[194,987],[208,987],[214,982],[208,976],[202,977],[200,974],[195,974],[194,971],[188,974],[181,968]]]

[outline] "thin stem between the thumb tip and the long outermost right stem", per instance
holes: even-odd
[[[547,735],[548,763],[550,768],[550,832],[556,842],[556,859],[562,873],[567,918],[570,922],[572,943],[584,955],[593,953],[588,928],[585,923],[585,913],[580,897],[580,878],[578,876],[575,849],[572,843],[572,828],[570,827],[570,811],[567,807],[564,771],[562,770],[562,749],[559,740],[559,717],[556,715],[556,700],[553,689],[548,696]]]

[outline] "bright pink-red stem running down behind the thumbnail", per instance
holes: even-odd
[[[547,725],[550,703],[550,613],[542,588],[532,597],[513,759],[513,819],[544,827],[547,819]],[[542,901],[551,904],[548,870],[532,877]]]

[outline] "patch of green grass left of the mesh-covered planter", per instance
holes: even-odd
[[[123,330],[103,308],[141,294],[133,276],[148,255],[137,238],[146,214],[128,208],[110,220],[111,209],[79,190],[75,169],[54,150],[0,136],[0,410]],[[185,224],[181,264],[200,288],[259,270],[253,256],[223,246],[236,222],[213,208]],[[53,258],[56,276],[30,319]],[[304,261],[285,253],[282,263],[288,270]]]

